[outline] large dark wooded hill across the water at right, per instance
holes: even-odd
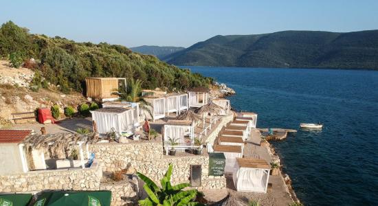
[[[194,66],[378,69],[378,30],[219,35],[162,60]]]

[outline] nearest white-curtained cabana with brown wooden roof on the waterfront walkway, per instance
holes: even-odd
[[[254,164],[252,163],[251,165],[248,166],[243,166],[240,165],[239,161],[263,161],[262,159],[252,159],[250,157],[248,158],[236,158],[236,165],[234,168],[234,172],[232,174],[232,181],[234,182],[234,186],[236,188],[236,191],[238,192],[263,192],[267,193],[267,187],[269,183],[269,172],[270,172],[270,167],[269,165],[265,162],[265,164],[260,164],[258,165],[257,163]],[[253,174],[254,172],[259,172],[260,173],[260,179],[253,179]],[[262,174],[262,175],[261,175]],[[261,181],[265,181],[265,184],[263,185],[264,188],[256,188],[256,187],[250,187],[250,184],[255,184]],[[248,185],[249,184],[249,185]]]

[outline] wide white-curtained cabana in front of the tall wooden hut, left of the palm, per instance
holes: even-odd
[[[108,107],[91,111],[91,113],[100,134],[109,133],[112,128],[120,134],[134,130],[133,108]]]

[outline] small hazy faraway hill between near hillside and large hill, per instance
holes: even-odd
[[[173,54],[175,52],[179,52],[182,49],[185,49],[185,47],[159,47],[159,46],[140,46],[140,47],[131,47],[131,51],[133,52],[139,52],[142,54],[151,54],[153,56],[156,56],[157,58],[164,58],[165,56],[169,54]]]

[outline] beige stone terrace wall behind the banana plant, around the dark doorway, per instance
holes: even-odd
[[[128,170],[129,173],[141,172],[159,183],[168,164],[173,164],[173,184],[190,182],[190,165],[201,165],[203,187],[220,189],[225,187],[225,179],[208,176],[209,157],[207,154],[196,156],[163,155],[162,142],[139,142],[128,144],[94,144],[90,150],[106,172]],[[214,181],[215,180],[215,181]]]

